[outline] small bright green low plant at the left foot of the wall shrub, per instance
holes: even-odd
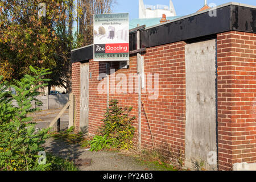
[[[104,135],[104,137],[95,135],[93,140],[90,142],[90,151],[99,151],[104,148],[110,148],[111,143],[112,140],[108,139],[107,135]]]

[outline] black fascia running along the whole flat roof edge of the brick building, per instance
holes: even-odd
[[[217,16],[209,16],[209,11],[212,10],[204,10],[141,30],[141,48],[212,36],[232,30],[256,33],[255,6],[226,3],[216,7]],[[136,33],[131,32],[130,51],[134,51],[136,45]],[[72,63],[93,59],[93,46],[75,49],[71,55]]]

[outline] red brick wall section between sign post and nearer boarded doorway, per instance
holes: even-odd
[[[174,162],[177,157],[184,161],[185,43],[148,48],[144,55],[144,72],[159,75],[159,96],[156,100],[149,100],[147,94],[142,94],[142,146],[152,148],[145,108],[157,146],[167,156],[174,155]]]

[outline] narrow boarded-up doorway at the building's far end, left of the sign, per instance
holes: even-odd
[[[88,132],[89,115],[89,63],[81,64],[80,130]]]

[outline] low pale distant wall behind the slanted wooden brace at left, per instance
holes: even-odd
[[[35,102],[32,102],[32,106],[40,107],[42,110],[48,109],[60,109],[68,102],[68,94],[58,94],[58,95],[48,95],[48,96],[38,96],[38,100],[43,102],[42,106],[35,106]],[[18,106],[17,102],[13,102],[14,106]]]

